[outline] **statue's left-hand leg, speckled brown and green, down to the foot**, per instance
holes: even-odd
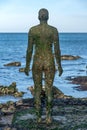
[[[42,90],[42,71],[33,69],[33,80],[34,80],[34,102],[37,115],[37,121],[41,121],[41,90]]]

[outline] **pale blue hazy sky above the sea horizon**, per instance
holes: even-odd
[[[87,32],[87,0],[0,0],[0,32],[28,32],[41,8],[59,32]]]

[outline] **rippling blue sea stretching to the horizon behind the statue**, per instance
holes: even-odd
[[[87,76],[87,33],[59,33],[61,55],[80,56],[78,60],[62,60],[63,74],[55,73],[54,86],[58,87],[64,94],[77,98],[87,97],[87,91],[76,89],[75,84],[67,80],[67,77]],[[22,98],[31,98],[31,92],[27,89],[34,85],[32,71],[29,76],[19,72],[26,64],[26,49],[28,45],[27,33],[0,33],[0,86],[9,86],[16,82],[18,91],[25,92]],[[10,62],[21,62],[19,67],[8,67],[4,64]],[[32,62],[31,66],[32,68]],[[0,103],[7,101],[18,101],[11,95],[0,96]]]

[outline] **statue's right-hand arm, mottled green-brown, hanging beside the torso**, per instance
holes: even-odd
[[[59,35],[58,35],[57,30],[54,33],[54,51],[55,51],[56,62],[58,65],[59,76],[61,76],[63,69],[61,66],[61,51],[60,51],[60,45],[59,45]]]

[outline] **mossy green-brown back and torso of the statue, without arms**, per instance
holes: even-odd
[[[54,65],[52,44],[55,28],[48,24],[40,24],[31,28],[31,36],[34,40],[34,63],[41,66]]]

